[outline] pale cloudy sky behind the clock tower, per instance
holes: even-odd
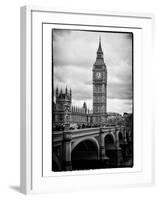
[[[92,109],[92,68],[101,37],[107,66],[107,111],[132,112],[132,34],[53,30],[54,87],[72,89],[72,104]],[[55,91],[54,88],[54,91]]]

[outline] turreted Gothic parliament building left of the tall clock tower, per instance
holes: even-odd
[[[91,123],[90,118],[92,115],[87,109],[87,105],[84,102],[83,107],[79,108],[72,106],[72,92],[68,89],[63,92],[59,92],[56,89],[56,104],[53,106],[53,126],[63,126],[64,128],[71,127],[73,125],[87,126]]]

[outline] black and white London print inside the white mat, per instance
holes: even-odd
[[[52,171],[133,167],[133,33],[52,29]]]

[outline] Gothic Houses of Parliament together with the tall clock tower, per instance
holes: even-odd
[[[86,102],[81,108],[72,105],[71,89],[65,91],[56,88],[56,102],[53,102],[53,127],[58,125],[70,127],[104,125],[107,120],[107,67],[104,63],[101,39],[97,50],[96,61],[92,68],[93,111],[87,108]]]

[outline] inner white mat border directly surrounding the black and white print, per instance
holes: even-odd
[[[128,29],[128,28],[109,28],[109,27],[88,27],[88,26],[70,26],[70,25],[53,25],[43,24],[43,175],[44,176],[65,176],[65,175],[82,175],[82,174],[95,174],[95,173],[121,173],[121,172],[137,172],[141,171],[142,163],[142,136],[138,134],[139,127],[141,129],[141,101],[135,102],[134,107],[134,166],[133,168],[114,168],[114,169],[100,169],[100,170],[82,170],[70,172],[52,172],[51,171],[51,137],[52,137],[52,119],[51,119],[51,73],[52,73],[52,29],[73,29],[73,30],[99,30],[99,31],[116,31],[116,32],[132,32],[134,38],[134,102],[137,97],[141,99],[141,54],[142,54],[142,30],[141,29]],[[109,66],[108,66],[109,69]],[[63,72],[65,74],[65,72]],[[90,72],[91,73],[91,72]],[[109,76],[109,70],[108,70]],[[139,84],[140,83],[140,84]],[[141,133],[142,131],[140,131]]]

